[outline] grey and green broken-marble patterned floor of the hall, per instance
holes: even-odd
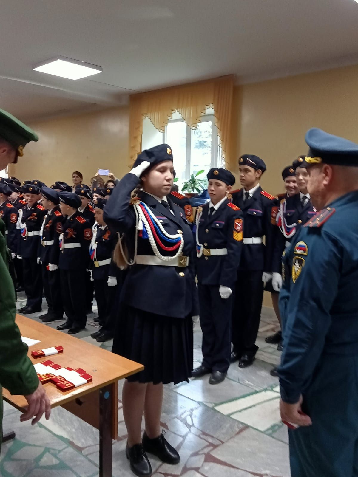
[[[23,306],[19,294],[17,306]],[[45,310],[45,301],[43,301]],[[93,311],[96,311],[94,304]],[[43,312],[43,311],[42,311]],[[33,320],[41,313],[31,316]],[[110,350],[111,342],[97,343],[90,337],[97,325],[88,316],[79,339]],[[58,323],[50,323],[55,327]],[[150,456],[154,477],[289,477],[287,431],[278,413],[278,380],[270,376],[280,353],[264,338],[277,330],[270,309],[263,309],[252,366],[230,366],[227,379],[208,384],[208,377],[189,384],[165,386],[162,427],[168,441],[180,453],[176,466]],[[201,331],[194,328],[194,366],[201,362]],[[119,383],[119,397],[123,383]],[[113,476],[133,477],[125,456],[126,426],[118,401],[118,435],[113,441]],[[20,413],[5,403],[4,432],[16,431],[16,439],[2,447],[1,477],[96,477],[98,476],[98,431],[63,408],[53,409],[49,421],[31,426],[20,423]]]

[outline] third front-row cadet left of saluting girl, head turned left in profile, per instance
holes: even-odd
[[[50,187],[42,187],[42,205],[47,210],[40,231],[38,256],[42,267],[43,291],[48,305],[47,313],[39,318],[44,322],[63,319],[60,271],[58,259],[60,247],[58,235],[61,233],[63,215],[59,207],[58,193]]]

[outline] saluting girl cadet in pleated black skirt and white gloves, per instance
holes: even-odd
[[[138,183],[138,197],[131,199]],[[188,381],[193,362],[194,238],[184,212],[167,197],[172,184],[170,147],[152,147],[139,154],[104,210],[105,223],[125,234],[133,258],[126,259],[131,266],[121,289],[113,352],[145,366],[127,378],[122,395],[126,456],[137,476],[151,475],[146,452],[169,464],[179,462],[178,452],[160,434],[163,384]],[[121,241],[116,259],[118,249],[123,251]]]

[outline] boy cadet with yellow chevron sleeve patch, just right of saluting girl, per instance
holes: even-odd
[[[209,384],[219,384],[230,365],[232,291],[242,251],[243,216],[227,198],[235,183],[232,173],[213,168],[207,177],[210,202],[198,208],[196,217],[203,361],[191,375],[211,373]]]

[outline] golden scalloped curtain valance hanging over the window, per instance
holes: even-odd
[[[173,112],[178,110],[192,128],[200,122],[209,106],[214,108],[215,125],[225,163],[230,164],[230,126],[232,120],[233,75],[199,83],[138,93],[130,96],[129,147],[130,165],[141,151],[143,118],[148,117],[158,131],[164,132]]]

